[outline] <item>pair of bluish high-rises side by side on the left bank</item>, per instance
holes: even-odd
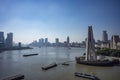
[[[13,33],[7,33],[7,37],[4,37],[4,32],[0,32],[0,48],[13,47]]]

